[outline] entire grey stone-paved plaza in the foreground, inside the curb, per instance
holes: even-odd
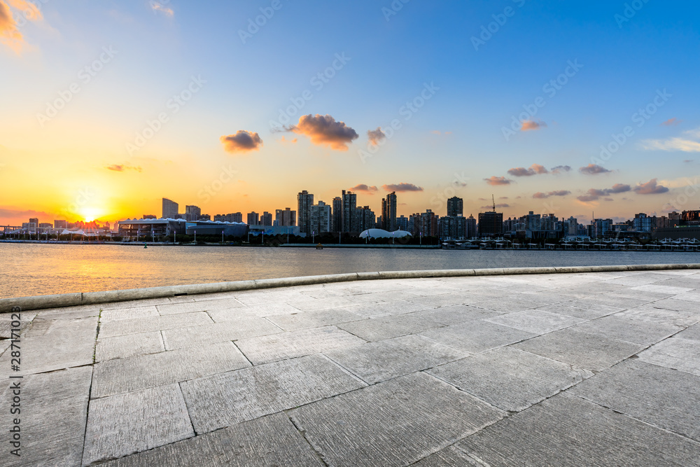
[[[8,382],[10,315],[0,315]],[[700,270],[22,312],[5,466],[700,466]]]

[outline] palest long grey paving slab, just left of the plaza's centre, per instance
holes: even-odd
[[[250,337],[236,342],[254,365],[295,358],[352,345],[365,341],[335,326],[292,330],[286,333]]]

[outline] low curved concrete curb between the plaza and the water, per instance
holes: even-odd
[[[18,312],[29,309],[98,305],[100,303],[167,298],[176,295],[200,295],[248,291],[261,288],[330,284],[332,282],[365,281],[373,279],[419,279],[427,277],[504,276],[512,274],[570,274],[580,272],[622,272],[700,269],[700,264],[626,265],[626,266],[570,266],[570,267],[498,267],[493,269],[457,269],[426,271],[352,272],[349,274],[325,274],[322,276],[281,277],[279,279],[254,279],[247,281],[216,282],[213,284],[189,284],[131,288],[120,291],[62,293],[59,295],[35,295],[34,297],[0,298],[1,312]]]

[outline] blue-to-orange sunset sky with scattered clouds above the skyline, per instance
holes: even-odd
[[[700,209],[696,1],[0,0],[0,225]]]

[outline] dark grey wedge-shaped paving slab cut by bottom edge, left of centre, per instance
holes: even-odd
[[[104,464],[106,467],[322,467],[285,414],[274,414],[230,428],[158,447]]]

